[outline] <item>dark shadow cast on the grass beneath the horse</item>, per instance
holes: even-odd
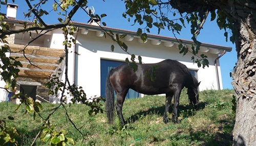
[[[205,105],[206,105],[206,103],[204,103],[204,102],[199,103],[196,111],[204,109]],[[126,121],[126,123],[135,123],[135,121],[139,120],[139,118],[141,116],[145,116],[148,114],[157,114],[159,116],[163,116],[164,110],[165,110],[165,106],[163,105],[161,107],[152,107],[148,110],[140,111],[140,112],[135,113],[132,116],[130,116],[128,118],[128,120]],[[194,112],[196,112],[195,108],[192,105],[185,105],[185,106],[180,105],[178,107],[178,111],[179,111],[178,116],[180,116],[180,113],[185,113],[185,115],[183,114],[183,116],[185,116],[185,117],[193,116],[195,114]],[[169,108],[169,113],[172,113],[172,112],[173,112],[173,105],[170,106],[170,108]],[[168,117],[168,120],[172,121],[172,119],[170,117]]]

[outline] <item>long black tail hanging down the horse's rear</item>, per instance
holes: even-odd
[[[114,118],[114,89],[110,83],[110,75],[112,70],[110,70],[108,77],[106,77],[106,116],[108,117],[109,123],[113,123]]]

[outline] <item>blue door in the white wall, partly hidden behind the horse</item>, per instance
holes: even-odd
[[[121,65],[122,63],[123,62],[121,61],[112,61],[112,60],[105,60],[105,59],[100,60],[100,92],[101,92],[100,94],[102,97],[105,97],[106,77],[108,76],[109,71],[112,68],[115,68]],[[127,99],[138,98],[138,97],[139,97],[139,93],[132,89],[130,89],[126,95]]]

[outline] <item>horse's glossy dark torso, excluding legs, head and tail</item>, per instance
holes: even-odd
[[[188,69],[176,60],[167,59],[159,63],[137,65],[136,71],[128,63],[112,70],[110,81],[115,90],[132,88],[144,94],[161,94],[185,85]]]

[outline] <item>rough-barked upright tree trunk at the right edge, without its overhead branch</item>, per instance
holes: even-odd
[[[238,62],[232,72],[232,85],[237,94],[233,145],[256,145],[256,9],[253,9],[247,13],[236,10],[238,18],[243,18],[237,21]]]

